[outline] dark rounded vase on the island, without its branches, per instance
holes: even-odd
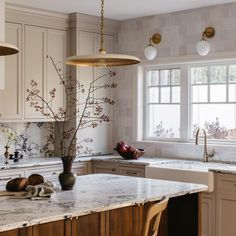
[[[72,190],[75,185],[76,174],[72,172],[73,156],[62,157],[63,172],[59,175],[61,190]]]

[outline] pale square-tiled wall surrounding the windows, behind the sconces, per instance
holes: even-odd
[[[188,59],[202,60],[196,55],[195,44],[207,26],[214,26],[216,30],[215,37],[210,41],[212,50],[209,58],[222,55],[235,55],[236,58],[236,3],[124,21],[118,34],[118,52],[136,55],[146,64],[143,49],[147,46],[150,36],[158,32],[162,34],[162,42],[158,45],[158,57],[151,62],[152,64]],[[137,67],[119,69],[117,78],[119,81],[116,93],[115,140],[134,142]],[[203,154],[202,147],[194,144],[135,145],[146,147],[147,154],[152,156],[200,159]],[[214,160],[236,161],[236,148],[216,147]]]

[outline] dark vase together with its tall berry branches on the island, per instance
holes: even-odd
[[[34,80],[31,81],[31,88],[27,89],[26,100],[43,116],[54,119],[58,144],[60,145],[58,149],[63,163],[63,172],[59,175],[61,189],[72,190],[76,180],[76,175],[72,172],[72,164],[76,155],[93,154],[93,150],[88,147],[88,143],[93,142],[93,140],[90,137],[79,135],[79,133],[83,129],[94,129],[100,124],[110,122],[109,114],[105,113],[107,109],[104,107],[114,105],[115,101],[109,97],[100,97],[100,93],[97,91],[116,88],[117,85],[112,80],[115,73],[112,71],[104,73],[91,81],[86,88],[77,79],[64,75],[62,70],[58,68],[58,63],[52,57],[48,58],[58,75],[58,83],[64,89],[67,99],[65,107],[54,109],[52,104],[56,97],[56,89],[52,88],[49,92],[49,99],[45,100]],[[95,96],[94,94],[98,95]],[[69,99],[71,96],[73,98]],[[81,101],[77,97],[84,97],[85,99]],[[68,121],[72,120],[78,122],[73,127],[69,127]]]

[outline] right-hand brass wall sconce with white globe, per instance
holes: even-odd
[[[196,45],[197,53],[200,56],[206,56],[210,52],[211,45],[210,45],[210,43],[206,39],[213,38],[214,35],[215,35],[214,27],[207,27],[203,31],[202,38],[201,38],[201,40]]]

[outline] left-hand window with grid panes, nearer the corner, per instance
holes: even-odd
[[[179,138],[180,69],[151,69],[146,75],[146,137]]]

